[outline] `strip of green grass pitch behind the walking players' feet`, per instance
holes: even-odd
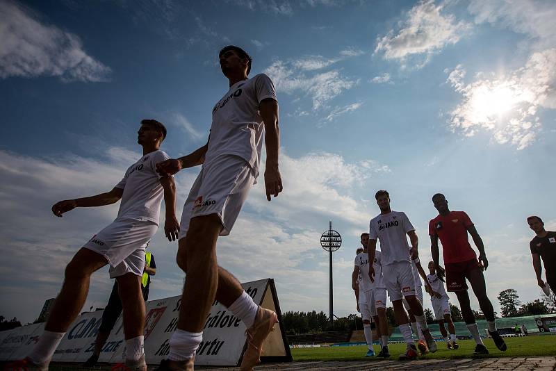
[[[484,339],[484,345],[489,349],[491,357],[518,357],[518,356],[555,356],[556,336],[525,336],[522,338],[505,338],[507,351],[500,352],[493,340]],[[475,342],[473,340],[460,340],[459,349],[448,350],[444,342],[436,343],[436,353],[429,353],[422,358],[472,358]],[[389,345],[391,359],[405,352],[405,344]],[[366,345],[353,347],[320,347],[291,349],[294,361],[361,361],[367,352]],[[375,345],[375,352],[379,346]],[[379,358],[369,358],[370,360]]]

